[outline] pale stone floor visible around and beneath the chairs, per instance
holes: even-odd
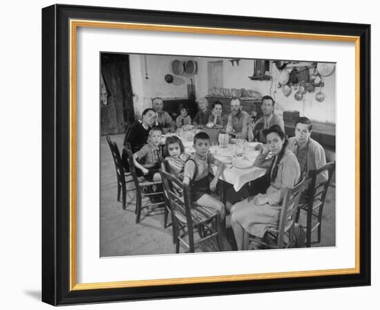
[[[113,135],[121,149],[124,134]],[[135,224],[135,192],[127,192],[126,210],[122,210],[122,202],[117,201],[117,182],[115,165],[106,136],[100,143],[100,256],[149,255],[175,253],[171,226],[164,228],[164,215],[160,210],[156,215],[143,212],[139,224]],[[132,183],[130,183],[132,186]],[[321,243],[315,246],[335,245],[335,186],[334,176],[332,185],[327,192],[323,210],[323,231]],[[237,194],[229,188],[227,197],[234,202],[246,196],[245,190]],[[169,219],[170,221],[170,219]],[[301,221],[304,218],[301,217]],[[234,235],[231,229],[226,231],[225,250],[234,250]],[[314,239],[316,235],[313,235]],[[205,244],[196,251],[211,251],[213,244]],[[184,248],[181,248],[184,251]]]

